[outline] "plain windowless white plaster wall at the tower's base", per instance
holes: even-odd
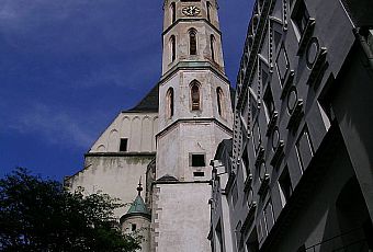
[[[158,184],[152,226],[157,252],[211,251],[211,186],[207,183]]]

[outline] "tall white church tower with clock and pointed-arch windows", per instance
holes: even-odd
[[[165,0],[151,251],[211,251],[211,168],[231,138],[216,0]]]

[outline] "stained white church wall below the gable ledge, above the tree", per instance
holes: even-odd
[[[86,157],[86,168],[67,179],[71,191],[79,186],[87,195],[102,191],[122,203],[132,203],[137,195],[138,180],[143,177],[144,187],[147,165],[154,156],[135,157]],[[127,213],[128,206],[115,210],[118,218]]]

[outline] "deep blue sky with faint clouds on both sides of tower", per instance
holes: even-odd
[[[252,0],[219,0],[235,84]],[[162,0],[0,0],[0,176],[61,181],[159,80]]]

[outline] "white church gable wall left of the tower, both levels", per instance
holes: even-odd
[[[84,193],[108,193],[122,203],[131,203],[140,177],[155,158],[157,113],[121,113],[86,154],[84,169],[66,179],[70,190],[83,187]],[[120,151],[121,138],[127,138],[127,151]],[[127,206],[115,211],[126,213]]]

